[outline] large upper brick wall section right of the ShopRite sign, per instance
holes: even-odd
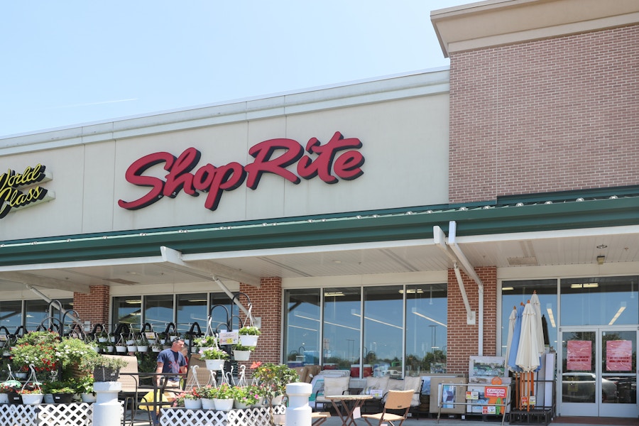
[[[639,26],[454,53],[449,200],[639,185]]]

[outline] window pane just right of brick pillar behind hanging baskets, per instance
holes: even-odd
[[[287,290],[284,305],[288,365],[320,364],[320,290]]]

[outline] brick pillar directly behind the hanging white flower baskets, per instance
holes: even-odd
[[[258,339],[255,352],[251,354],[251,361],[280,363],[282,360],[282,278],[261,278],[260,288],[241,284],[240,291],[246,293],[251,299],[253,317],[261,317],[262,321],[262,334]],[[241,302],[244,303],[244,297]]]

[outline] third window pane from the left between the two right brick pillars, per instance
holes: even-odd
[[[388,285],[364,289],[364,364],[356,361],[352,376],[402,376],[404,336],[403,286]],[[359,317],[359,310],[351,312]]]

